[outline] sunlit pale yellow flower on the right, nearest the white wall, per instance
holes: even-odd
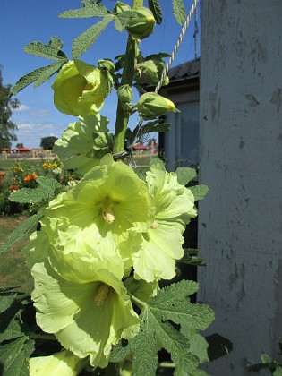
[[[135,278],[152,282],[156,278],[175,277],[175,260],[184,255],[185,225],[196,217],[192,192],[178,184],[175,173],[167,173],[162,164],[147,172],[156,212],[147,232],[141,237],[141,249],[132,255]]]

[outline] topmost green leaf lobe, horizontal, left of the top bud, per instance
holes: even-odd
[[[90,17],[104,17],[110,13],[102,4],[94,3],[92,0],[85,0],[82,2],[83,7],[80,9],[70,9],[59,14],[60,18],[90,18]]]

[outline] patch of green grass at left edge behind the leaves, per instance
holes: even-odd
[[[4,244],[6,238],[25,220],[27,220],[26,216],[0,217],[0,244]],[[21,252],[28,242],[27,238],[0,255],[0,287],[21,286],[19,290],[23,292],[30,293],[32,291],[33,281],[30,269],[27,268],[25,257]]]

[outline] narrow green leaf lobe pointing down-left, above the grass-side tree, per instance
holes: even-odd
[[[38,68],[23,77],[15,83],[12,89],[12,94],[15,95],[22,89],[26,88],[30,83],[34,83],[34,87],[37,88],[39,85],[47,81],[54,73],[58,72],[60,68],[67,62],[67,60],[60,60],[56,63],[43,66]]]

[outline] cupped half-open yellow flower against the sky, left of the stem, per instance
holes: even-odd
[[[64,64],[52,84],[54,104],[67,115],[98,114],[112,87],[106,70],[76,59]]]

